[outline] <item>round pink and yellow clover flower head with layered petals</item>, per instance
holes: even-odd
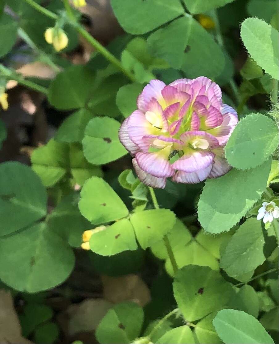
[[[230,170],[223,148],[238,118],[222,103],[216,83],[203,76],[169,85],[151,80],[137,107],[122,123],[119,139],[143,183],[164,188],[171,177],[194,184]]]

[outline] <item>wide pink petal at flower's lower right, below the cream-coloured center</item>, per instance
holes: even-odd
[[[138,153],[140,154],[140,153]],[[212,165],[215,154],[207,151],[193,151],[184,154],[172,164],[172,168],[184,172],[196,172]]]

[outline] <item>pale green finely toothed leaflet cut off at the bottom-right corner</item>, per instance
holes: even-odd
[[[274,344],[259,321],[243,311],[223,309],[217,313],[213,325],[225,344]]]

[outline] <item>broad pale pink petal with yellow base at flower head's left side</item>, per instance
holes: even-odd
[[[143,112],[136,110],[127,118],[126,126],[128,129],[128,135],[130,139],[141,148],[143,151],[148,151],[149,145],[146,144],[142,138],[145,135],[154,133],[154,130],[159,131],[152,127],[152,124],[147,121]]]

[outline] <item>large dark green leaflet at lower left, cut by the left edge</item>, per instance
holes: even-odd
[[[43,222],[1,239],[0,250],[0,278],[19,291],[53,288],[74,267],[72,249]]]

